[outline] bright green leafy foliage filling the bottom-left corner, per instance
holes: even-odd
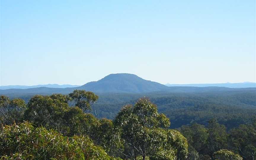
[[[4,126],[0,132],[1,159],[103,159],[114,160],[88,136],[64,137],[55,130],[31,123]]]

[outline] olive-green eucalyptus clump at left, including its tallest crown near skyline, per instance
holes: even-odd
[[[79,126],[81,127],[85,116],[83,112],[90,110],[90,104],[97,99],[97,95],[84,90],[74,90],[69,95],[35,95],[28,101],[25,119],[37,126],[43,125],[63,132],[66,130],[66,134],[77,133],[77,130],[81,129]],[[70,107],[70,101],[75,101],[76,106]]]

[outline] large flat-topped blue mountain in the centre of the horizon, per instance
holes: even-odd
[[[142,79],[135,74],[110,74],[99,81],[89,82],[79,89],[93,92],[145,93],[168,91],[169,87]]]

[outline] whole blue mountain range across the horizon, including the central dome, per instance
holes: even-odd
[[[51,85],[50,85],[51,86]],[[0,94],[24,95],[24,94],[53,94],[71,93],[74,89],[84,89],[95,93],[149,93],[149,92],[229,92],[239,90],[256,91],[256,88],[226,88],[226,87],[195,87],[195,86],[166,86],[157,82],[142,79],[134,74],[110,74],[98,81],[89,82],[82,86],[61,88],[37,87],[28,89],[0,89]],[[71,86],[71,85],[69,85]],[[256,93],[256,92],[255,92]]]

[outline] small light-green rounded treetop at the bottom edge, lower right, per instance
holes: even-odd
[[[243,160],[239,154],[234,154],[232,151],[227,149],[221,149],[214,152],[213,157],[215,160]]]

